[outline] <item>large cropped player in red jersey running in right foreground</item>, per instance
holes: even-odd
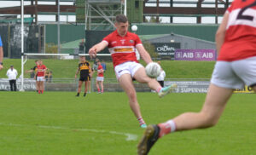
[[[247,14],[244,14],[247,12]],[[201,112],[186,112],[166,123],[149,125],[137,153],[148,154],[163,135],[187,129],[210,128],[218,123],[234,89],[244,84],[256,92],[256,1],[235,0],[216,33],[218,61]]]

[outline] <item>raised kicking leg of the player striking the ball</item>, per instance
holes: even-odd
[[[171,93],[174,89],[177,88],[177,85],[170,85],[168,87],[162,88],[160,83],[158,83],[154,78],[149,78],[146,74],[145,68],[140,67],[137,72],[135,72],[134,77],[139,83],[148,83],[150,89],[154,89],[160,97]]]

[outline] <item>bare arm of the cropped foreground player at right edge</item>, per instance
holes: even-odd
[[[222,44],[224,43],[228,20],[229,20],[229,13],[226,13],[226,14],[224,14],[224,18],[223,18],[220,26],[218,27],[218,31],[216,32],[216,35],[215,35],[216,49],[217,49],[218,54],[219,54]]]

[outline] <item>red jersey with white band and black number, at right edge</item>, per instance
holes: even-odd
[[[218,60],[233,61],[256,56],[256,0],[235,0]]]

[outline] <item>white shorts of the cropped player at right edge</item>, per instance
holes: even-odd
[[[256,56],[231,62],[217,61],[211,83],[225,89],[256,85]]]

